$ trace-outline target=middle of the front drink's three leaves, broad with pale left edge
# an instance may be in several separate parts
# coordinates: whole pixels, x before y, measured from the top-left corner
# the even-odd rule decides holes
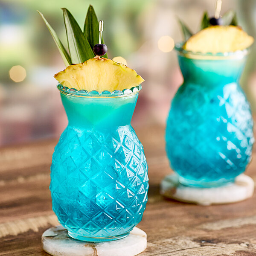
[[[72,63],[77,64],[93,58],[95,56],[93,50],[75,18],[66,8],[62,10]]]

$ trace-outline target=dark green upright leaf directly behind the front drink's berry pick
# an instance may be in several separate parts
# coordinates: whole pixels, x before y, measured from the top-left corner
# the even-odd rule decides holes
[[[96,13],[92,5],[89,6],[87,15],[84,21],[84,35],[87,38],[90,44],[90,47],[92,49],[95,44],[99,43],[99,20],[96,16]],[[103,37],[102,37],[101,43],[104,44]],[[108,58],[107,53],[102,57]]]

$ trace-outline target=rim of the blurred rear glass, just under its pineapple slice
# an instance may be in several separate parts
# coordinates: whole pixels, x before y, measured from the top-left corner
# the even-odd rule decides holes
[[[193,51],[187,51],[183,49],[183,45],[185,42],[180,42],[175,44],[175,50],[183,55],[195,55],[195,56],[202,56],[202,57],[230,57],[230,58],[241,58],[248,54],[248,51],[250,47],[243,49],[243,50],[237,50],[236,52],[193,52]]]

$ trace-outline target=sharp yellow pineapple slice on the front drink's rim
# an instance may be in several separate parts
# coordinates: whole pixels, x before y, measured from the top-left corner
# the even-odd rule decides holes
[[[135,70],[107,58],[91,58],[84,63],[70,65],[54,77],[68,88],[88,92],[97,90],[99,93],[131,89],[144,81]]]

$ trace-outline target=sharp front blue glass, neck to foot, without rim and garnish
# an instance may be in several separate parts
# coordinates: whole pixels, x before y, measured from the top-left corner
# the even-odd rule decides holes
[[[137,96],[61,93],[69,125],[52,157],[50,190],[52,208],[73,238],[119,239],[142,219],[148,166],[130,124]]]

